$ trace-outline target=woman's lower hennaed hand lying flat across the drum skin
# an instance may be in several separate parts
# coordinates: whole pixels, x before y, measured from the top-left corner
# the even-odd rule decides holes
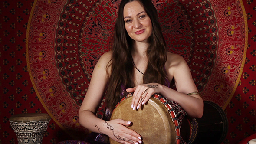
[[[131,125],[131,121],[115,119],[105,121],[103,124],[105,134],[122,144],[141,144],[141,136],[135,131],[125,127]]]

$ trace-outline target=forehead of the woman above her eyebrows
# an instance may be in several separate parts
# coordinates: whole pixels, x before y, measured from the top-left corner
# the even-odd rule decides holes
[[[136,15],[142,11],[145,11],[142,3],[135,0],[125,4],[124,16]]]

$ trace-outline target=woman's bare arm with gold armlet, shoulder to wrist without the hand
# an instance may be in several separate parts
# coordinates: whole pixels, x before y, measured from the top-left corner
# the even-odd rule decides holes
[[[201,118],[203,115],[203,100],[200,95],[187,95],[198,91],[191,76],[187,62],[179,55],[171,54],[169,74],[173,74],[177,91],[163,86],[163,95],[181,105],[188,115]],[[174,60],[175,59],[175,60]]]

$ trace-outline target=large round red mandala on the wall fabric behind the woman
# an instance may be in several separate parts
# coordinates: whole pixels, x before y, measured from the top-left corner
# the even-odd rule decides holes
[[[49,115],[71,136],[95,64],[111,49],[119,0],[35,1],[27,29],[30,78]],[[168,50],[184,57],[204,100],[225,107],[247,46],[242,1],[154,0]],[[104,110],[102,103],[98,115]],[[78,134],[80,133],[80,134]]]

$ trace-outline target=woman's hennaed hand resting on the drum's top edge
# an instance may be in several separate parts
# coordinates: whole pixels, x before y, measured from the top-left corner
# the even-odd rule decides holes
[[[139,109],[141,105],[144,105],[151,98],[151,95],[159,93],[159,87],[161,85],[158,83],[149,83],[126,89],[127,92],[133,93],[131,108],[133,110]]]

